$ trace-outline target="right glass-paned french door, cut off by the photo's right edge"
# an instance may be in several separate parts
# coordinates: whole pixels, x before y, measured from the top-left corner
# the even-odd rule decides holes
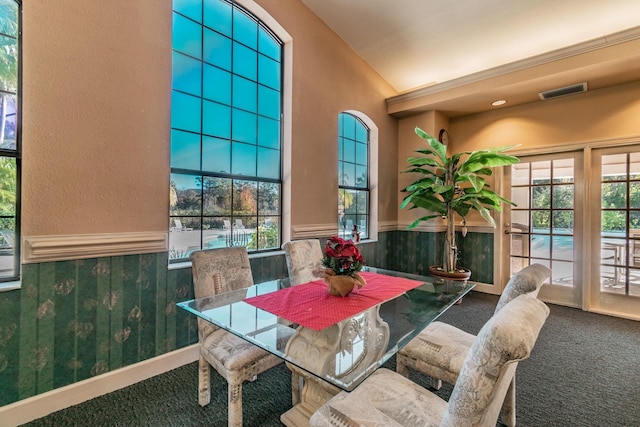
[[[593,311],[640,319],[640,146],[594,149],[590,208]]]

